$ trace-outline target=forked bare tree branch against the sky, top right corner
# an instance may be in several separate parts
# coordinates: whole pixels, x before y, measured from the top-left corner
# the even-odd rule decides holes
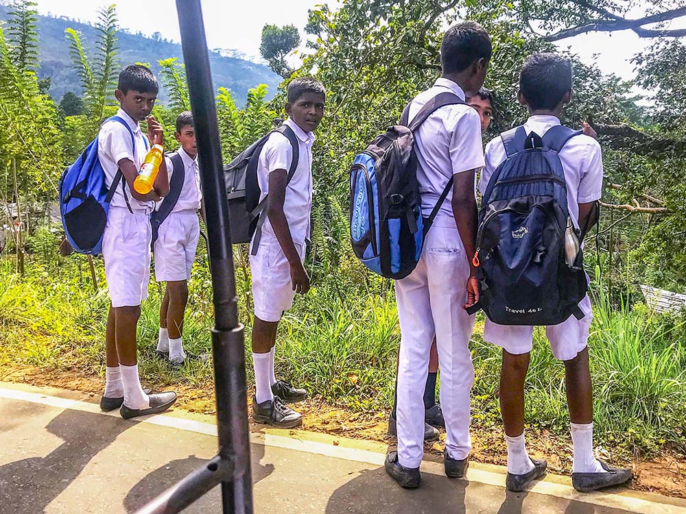
[[[583,1],[576,2],[577,5],[582,5],[586,8],[592,8],[587,3]],[[644,29],[643,25],[650,25],[652,23],[659,23],[661,21],[673,20],[675,18],[680,18],[681,16],[686,16],[686,7],[672,9],[665,12],[660,12],[658,14],[651,14],[650,16],[643,16],[643,18],[627,20],[620,18],[619,16],[612,14],[611,12],[606,12],[604,10],[598,10],[593,8],[595,12],[599,14],[604,14],[611,19],[596,19],[591,20],[589,23],[584,25],[579,25],[578,27],[570,27],[569,29],[563,29],[555,34],[549,34],[543,36],[546,41],[559,41],[560,39],[571,38],[572,36],[578,36],[579,34],[585,34],[586,32],[613,32],[616,30],[632,30],[641,38],[657,38],[657,37],[679,37],[686,35],[686,29]]]

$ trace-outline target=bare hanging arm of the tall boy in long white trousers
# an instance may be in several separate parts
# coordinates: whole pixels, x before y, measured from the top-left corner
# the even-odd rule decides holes
[[[479,289],[476,280],[476,267],[472,262],[475,253],[476,231],[478,215],[476,197],[474,195],[474,178],[476,169],[462,171],[453,175],[453,217],[458,225],[458,232],[462,240],[462,246],[469,261],[469,280],[467,281],[467,303],[463,308],[471,307],[479,301]]]

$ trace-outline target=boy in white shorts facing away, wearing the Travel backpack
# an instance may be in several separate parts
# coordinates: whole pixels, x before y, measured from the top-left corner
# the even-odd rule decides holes
[[[543,137],[551,127],[560,125],[560,113],[571,99],[572,70],[569,60],[554,53],[539,53],[524,63],[519,77],[519,103],[529,110],[524,124],[527,134]],[[587,129],[587,127],[584,127]],[[567,183],[569,215],[577,227],[585,226],[594,202],[602,191],[600,145],[584,134],[574,136],[559,152]],[[484,193],[495,169],[506,160],[502,138],[486,146],[486,167],[479,183]],[[629,469],[617,469],[598,461],[593,455],[593,392],[589,371],[587,341],[593,313],[586,296],[579,304],[584,317],[569,317],[545,332],[553,355],[565,363],[567,404],[573,441],[572,483],[578,491],[593,491],[621,484],[631,478]],[[486,319],[484,340],[502,347],[500,407],[508,447],[507,487],[523,491],[545,473],[545,461],[528,456],[524,443],[524,380],[529,367],[533,327],[502,326]]]

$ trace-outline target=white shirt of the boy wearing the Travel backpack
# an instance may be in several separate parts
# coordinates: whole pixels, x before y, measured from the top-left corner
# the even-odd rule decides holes
[[[547,130],[560,125],[554,116],[532,116],[526,123],[526,133],[535,132],[543,137]],[[560,162],[565,171],[567,183],[567,204],[569,215],[576,225],[579,220],[579,205],[600,199],[602,195],[602,154],[598,141],[590,136],[574,136],[560,150]],[[486,166],[479,180],[479,191],[486,192],[488,180],[500,164],[507,158],[503,140],[500,136],[486,145]]]

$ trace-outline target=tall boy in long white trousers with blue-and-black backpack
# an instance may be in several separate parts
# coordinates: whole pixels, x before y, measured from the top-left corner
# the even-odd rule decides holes
[[[410,121],[431,98],[451,92],[462,101],[484,84],[490,39],[477,23],[447,30],[440,48],[442,77],[410,106]],[[431,212],[453,177],[452,194],[427,233],[416,269],[395,282],[401,328],[397,386],[398,451],[386,457],[386,472],[402,487],[418,487],[424,452],[423,391],[431,342],[436,336],[441,366],[440,404],[445,419],[445,473],[464,475],[471,449],[469,393],[474,368],[469,353],[474,317],[464,304],[477,298],[468,256],[476,237],[475,173],[484,165],[479,114],[470,106],[442,107],[416,132],[417,179],[423,212]],[[465,290],[466,286],[466,290]]]

